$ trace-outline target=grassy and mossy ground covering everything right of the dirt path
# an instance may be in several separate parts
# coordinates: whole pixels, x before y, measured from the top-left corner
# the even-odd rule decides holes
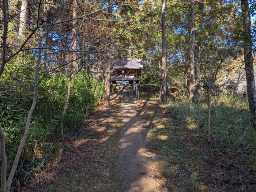
[[[213,142],[207,142],[207,103],[168,98],[154,110],[147,137],[158,155],[159,174],[169,191],[253,191],[256,132],[250,124],[246,98],[219,95],[211,102]]]

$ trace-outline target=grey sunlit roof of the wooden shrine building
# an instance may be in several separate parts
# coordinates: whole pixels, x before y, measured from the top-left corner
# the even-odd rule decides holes
[[[142,69],[143,61],[142,59],[120,59],[116,62],[115,68],[117,69]]]

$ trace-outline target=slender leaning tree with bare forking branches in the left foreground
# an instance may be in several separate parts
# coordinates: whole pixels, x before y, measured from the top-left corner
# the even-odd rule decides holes
[[[5,153],[5,133],[3,131],[2,126],[0,125],[0,155],[1,155],[1,192],[9,192],[10,188],[11,188],[11,184],[12,184],[12,180],[14,178],[14,175],[16,173],[16,169],[19,163],[19,159],[24,147],[24,144],[26,142],[27,136],[29,135],[29,127],[30,127],[30,121],[31,121],[31,116],[33,114],[34,108],[35,108],[35,104],[36,104],[36,100],[37,100],[37,89],[38,89],[38,85],[39,83],[42,81],[42,79],[44,79],[46,76],[52,74],[54,71],[56,71],[59,68],[62,68],[66,65],[69,65],[73,62],[76,62],[77,60],[81,59],[82,57],[88,55],[89,53],[93,53],[93,52],[97,52],[99,50],[93,50],[93,51],[86,51],[84,50],[82,52],[82,54],[80,54],[80,57],[78,58],[72,58],[71,57],[71,61],[69,62],[65,62],[61,65],[58,65],[56,67],[53,67],[51,69],[46,69],[46,71],[40,72],[40,74],[44,74],[41,76],[41,78],[38,79],[39,77],[39,68],[41,66],[43,66],[42,64],[42,56],[41,56],[41,52],[43,49],[49,49],[49,50],[53,50],[54,53],[51,54],[56,54],[59,57],[59,51],[62,50],[58,50],[58,49],[53,49],[53,48],[45,48],[45,47],[41,47],[42,45],[42,39],[45,37],[46,34],[48,34],[48,30],[51,29],[52,26],[56,26],[56,25],[60,25],[63,23],[68,23],[68,22],[72,22],[74,20],[78,20],[78,19],[83,19],[86,18],[86,16],[89,15],[93,15],[97,12],[100,12],[101,10],[104,10],[107,7],[103,7],[103,8],[99,8],[96,11],[93,10],[91,11],[89,14],[84,14],[80,17],[76,17],[76,18],[72,18],[72,19],[65,19],[62,21],[58,21],[64,14],[64,11],[67,9],[67,7],[69,6],[69,3],[71,1],[69,1],[67,4],[65,4],[65,6],[62,8],[62,10],[59,12],[59,15],[57,16],[57,18],[51,22],[51,23],[47,23],[44,25],[39,25],[39,19],[40,19],[40,7],[41,7],[41,0],[39,0],[38,3],[38,11],[37,11],[37,18],[35,19],[35,27],[34,29],[31,31],[31,33],[25,38],[25,41],[23,42],[22,45],[20,45],[20,47],[15,48],[14,52],[12,52],[12,54],[8,55],[7,57],[7,37],[8,37],[8,2],[7,0],[3,0],[1,1],[1,8],[3,10],[2,14],[3,14],[3,33],[2,33],[2,41],[1,41],[1,68],[0,68],[0,79],[2,77],[2,74],[5,70],[5,66],[8,63],[8,61],[10,61],[12,58],[14,58],[15,56],[17,56],[20,52],[23,51],[27,51],[27,50],[37,50],[37,63],[35,65],[35,78],[34,78],[34,90],[33,90],[33,102],[31,104],[30,110],[27,114],[27,119],[26,119],[26,125],[25,125],[25,132],[23,133],[23,137],[22,140],[20,141],[19,147],[18,147],[18,151],[15,155],[15,160],[14,163],[12,164],[12,168],[11,168],[11,172],[8,176],[8,180],[6,181],[6,172],[7,172],[7,158],[6,158],[6,153]],[[46,29],[46,30],[45,30]],[[48,29],[48,30],[47,30]],[[46,31],[46,32],[44,32]],[[40,32],[41,35],[40,37],[38,37],[38,34],[36,32]],[[36,47],[32,47],[32,48],[25,48],[25,45],[27,45],[27,43],[29,42],[30,39],[33,38],[33,41],[35,41],[35,45]],[[39,40],[38,40],[39,39]],[[75,39],[75,38],[74,38]],[[37,46],[38,45],[38,46]],[[99,49],[103,49],[104,46],[99,46]],[[64,52],[77,52],[77,50],[64,50]],[[49,53],[46,53],[49,54]]]

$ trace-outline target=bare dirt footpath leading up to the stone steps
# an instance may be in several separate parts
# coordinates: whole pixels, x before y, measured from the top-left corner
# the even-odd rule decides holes
[[[158,191],[154,180],[157,157],[146,148],[148,122],[140,118],[143,110],[129,103],[119,103],[117,107],[123,126],[114,162],[114,175],[118,182],[114,191]]]

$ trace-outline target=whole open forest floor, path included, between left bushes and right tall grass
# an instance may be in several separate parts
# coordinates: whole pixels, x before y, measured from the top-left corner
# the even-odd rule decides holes
[[[255,191],[252,164],[226,157],[177,122],[174,112],[158,107],[154,99],[95,108],[65,138],[62,160],[16,191],[215,192],[241,191],[242,186]]]

